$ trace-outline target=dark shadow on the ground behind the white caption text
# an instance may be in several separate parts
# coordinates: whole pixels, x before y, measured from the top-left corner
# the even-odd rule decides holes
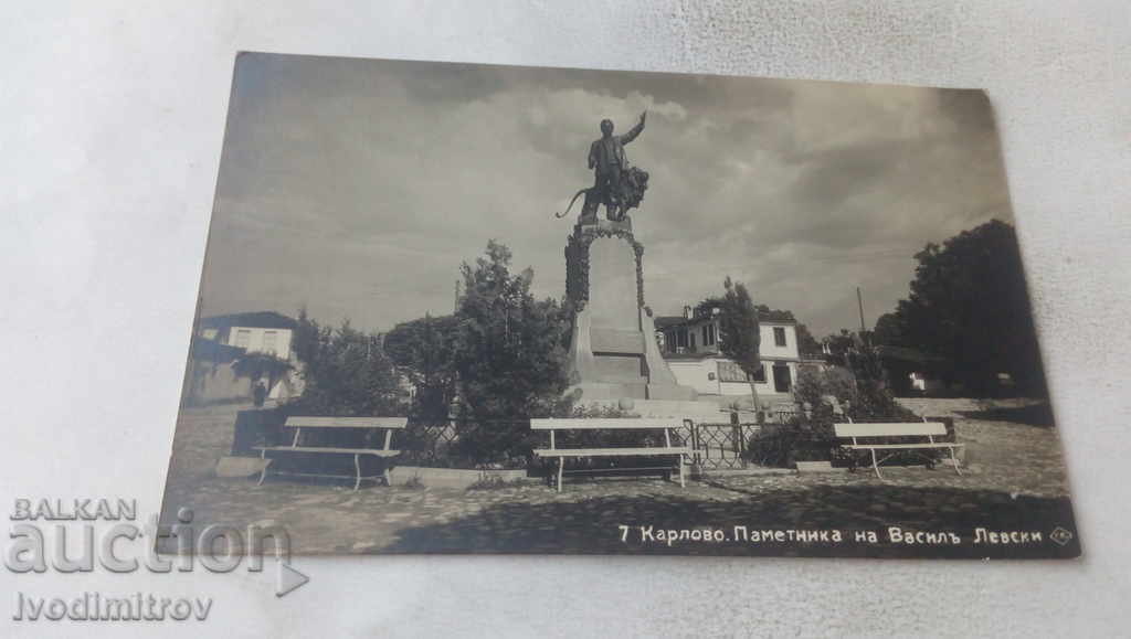
[[[736,489],[740,492],[742,489]],[[622,541],[629,526],[627,541]],[[684,541],[668,546],[645,541],[641,526],[654,530],[709,528],[726,541]],[[845,542],[752,543],[734,538],[734,527],[749,530],[840,530]],[[953,532],[958,546],[890,543],[888,527]],[[444,524],[398,532],[378,553],[592,553],[725,554],[882,558],[1071,558],[1076,539],[1060,545],[1050,533],[1074,530],[1067,499],[1011,496],[994,491],[912,486],[811,486],[763,491],[753,500],[703,501],[672,494],[598,496],[550,503],[502,502]],[[975,545],[975,528],[1041,532],[1043,542],[1025,545]],[[880,543],[855,543],[856,530],[874,530]]]

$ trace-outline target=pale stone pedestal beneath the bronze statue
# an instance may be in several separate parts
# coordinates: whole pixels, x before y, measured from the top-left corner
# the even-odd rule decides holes
[[[632,219],[584,219],[566,247],[566,293],[576,309],[570,389],[581,403],[696,398],[659,354],[644,303],[644,245]]]

